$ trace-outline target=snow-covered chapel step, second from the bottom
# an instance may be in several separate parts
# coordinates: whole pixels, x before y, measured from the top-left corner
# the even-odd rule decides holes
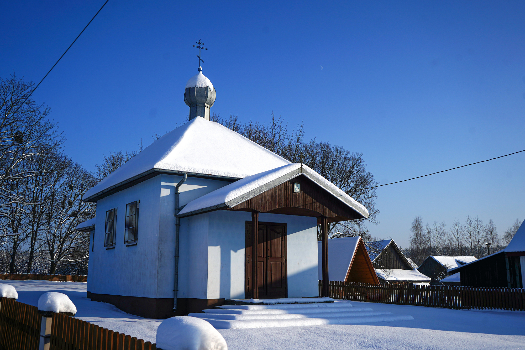
[[[286,320],[288,318],[324,318],[324,317],[354,317],[354,316],[376,316],[391,314],[386,311],[346,311],[346,312],[316,312],[312,314],[211,314],[191,313],[188,316],[199,318],[213,318],[214,320]]]

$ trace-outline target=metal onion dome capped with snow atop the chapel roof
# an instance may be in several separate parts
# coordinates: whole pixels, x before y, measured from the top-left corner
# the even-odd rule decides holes
[[[209,108],[215,102],[215,88],[204,74],[202,67],[198,67],[198,74],[191,77],[184,90],[184,102],[190,106],[190,120],[203,117],[209,120]]]

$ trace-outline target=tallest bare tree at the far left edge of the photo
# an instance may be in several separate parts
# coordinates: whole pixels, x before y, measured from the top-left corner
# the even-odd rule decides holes
[[[32,88],[14,74],[0,78],[0,232],[9,242],[9,271],[29,238],[27,209],[34,202],[28,179],[48,172],[34,163],[63,141],[56,123],[47,119],[49,108],[29,98]]]

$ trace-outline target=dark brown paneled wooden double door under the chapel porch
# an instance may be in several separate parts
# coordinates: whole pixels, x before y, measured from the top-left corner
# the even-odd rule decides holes
[[[251,298],[251,254],[253,253],[251,221],[246,222],[245,297]],[[259,298],[286,298],[287,276],[286,224],[259,222],[257,263]]]

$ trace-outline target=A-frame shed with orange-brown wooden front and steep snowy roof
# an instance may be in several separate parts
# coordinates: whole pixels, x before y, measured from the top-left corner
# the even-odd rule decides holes
[[[321,242],[318,242],[321,261]],[[379,283],[372,261],[361,237],[342,237],[328,240],[328,275],[330,281]],[[322,279],[319,264],[319,279]]]

